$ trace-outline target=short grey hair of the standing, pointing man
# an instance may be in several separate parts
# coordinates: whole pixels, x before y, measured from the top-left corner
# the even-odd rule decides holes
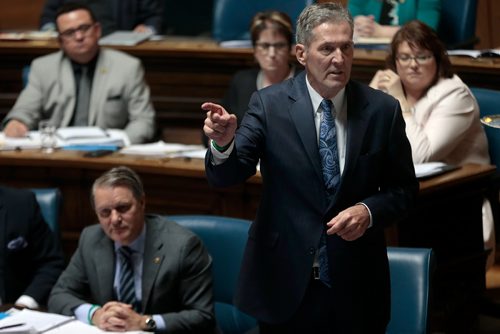
[[[354,21],[349,11],[336,2],[315,3],[304,8],[297,19],[296,42],[309,46],[313,38],[313,29],[325,22],[347,22],[354,31]]]

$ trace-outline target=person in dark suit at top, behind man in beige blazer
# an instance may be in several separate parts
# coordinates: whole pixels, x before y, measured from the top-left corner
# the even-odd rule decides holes
[[[47,0],[40,17],[41,30],[56,30],[56,12],[68,0]],[[84,0],[101,22],[103,35],[115,30],[159,33],[163,18],[160,0]]]

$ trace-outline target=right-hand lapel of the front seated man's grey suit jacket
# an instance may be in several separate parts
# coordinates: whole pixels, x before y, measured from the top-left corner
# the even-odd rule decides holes
[[[164,259],[161,252],[163,241],[160,235],[160,225],[154,219],[146,219],[146,242],[144,245],[144,261],[142,265],[142,309],[146,306],[153,293],[153,286]]]

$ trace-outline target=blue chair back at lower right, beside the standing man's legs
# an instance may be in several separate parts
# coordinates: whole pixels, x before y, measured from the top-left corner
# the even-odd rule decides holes
[[[387,256],[391,272],[391,321],[387,334],[427,333],[432,250],[388,247]]]

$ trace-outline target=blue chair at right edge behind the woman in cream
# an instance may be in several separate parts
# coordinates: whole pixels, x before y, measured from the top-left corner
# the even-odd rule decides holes
[[[498,102],[500,101],[500,90],[471,87],[472,94],[479,104],[479,114],[481,117],[500,114]],[[490,151],[491,163],[500,169],[500,129],[484,126],[488,147]]]

